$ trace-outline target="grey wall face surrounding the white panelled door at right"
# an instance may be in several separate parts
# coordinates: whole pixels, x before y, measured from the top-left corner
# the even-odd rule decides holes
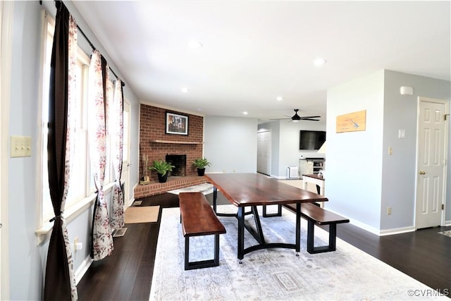
[[[413,87],[414,94],[401,95],[402,86]],[[449,100],[450,91],[446,80],[385,70],[381,230],[414,226],[418,97]],[[398,138],[398,130],[406,131],[404,139]],[[393,147],[392,156],[388,155],[388,147]],[[450,152],[447,161],[450,162]],[[447,221],[451,220],[450,182],[448,176]],[[387,207],[392,207],[390,216],[386,214]]]

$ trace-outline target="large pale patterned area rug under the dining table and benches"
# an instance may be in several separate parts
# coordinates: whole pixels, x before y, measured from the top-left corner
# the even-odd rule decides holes
[[[236,212],[232,205],[218,208]],[[448,300],[426,295],[434,290],[340,239],[335,252],[309,254],[304,220],[299,257],[290,249],[259,250],[239,264],[237,220],[220,219],[227,231],[220,235],[220,265],[185,271],[180,211],[163,209],[149,300]],[[261,218],[261,226],[268,242],[294,242],[295,214],[285,209],[281,217]],[[326,231],[315,228],[315,235],[316,245],[326,243]],[[190,252],[190,261],[213,258],[213,236],[192,238]]]

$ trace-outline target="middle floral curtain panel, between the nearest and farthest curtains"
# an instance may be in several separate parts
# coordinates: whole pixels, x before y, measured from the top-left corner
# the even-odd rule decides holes
[[[109,67],[101,58],[98,50],[94,50],[89,67],[89,156],[97,188],[97,199],[94,205],[92,220],[92,258],[103,259],[113,251],[113,237],[109,223],[108,207],[104,192],[106,167],[106,120],[108,112]]]

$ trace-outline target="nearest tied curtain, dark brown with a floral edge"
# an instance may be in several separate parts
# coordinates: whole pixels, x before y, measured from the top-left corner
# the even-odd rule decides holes
[[[56,25],[51,53],[49,134],[47,143],[49,190],[54,226],[49,241],[44,300],[77,300],[72,252],[63,217],[70,180],[75,130],[75,63],[77,24],[66,6],[56,1]]]

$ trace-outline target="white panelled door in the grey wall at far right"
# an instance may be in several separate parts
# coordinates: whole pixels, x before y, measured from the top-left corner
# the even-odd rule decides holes
[[[426,228],[442,224],[445,204],[445,106],[440,99],[419,98],[416,222]]]

